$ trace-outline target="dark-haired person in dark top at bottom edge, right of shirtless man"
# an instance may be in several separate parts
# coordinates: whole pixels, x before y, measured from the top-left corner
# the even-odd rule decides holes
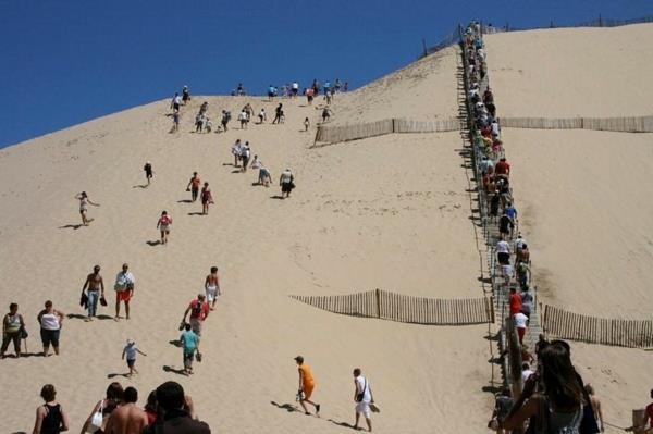
[[[162,412],[144,434],[211,434],[206,422],[197,420],[190,396],[176,382],[165,382],[157,387],[157,407]]]

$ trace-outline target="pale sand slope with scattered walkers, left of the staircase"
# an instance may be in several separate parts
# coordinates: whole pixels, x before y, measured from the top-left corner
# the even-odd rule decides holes
[[[444,67],[435,77],[455,77],[455,63],[430,67]],[[443,88],[431,75],[411,83],[433,94]],[[394,86],[404,84],[397,79],[375,95],[384,97]],[[455,97],[455,90],[443,96],[454,98],[447,115],[456,114]],[[143,402],[158,384],[175,380],[214,432],[347,432],[355,367],[369,375],[382,408],[374,417],[379,432],[471,432],[484,425],[492,406],[492,397],[481,393],[492,375],[486,326],[362,320],[288,297],[377,287],[480,297],[459,135],[385,136],[309,150],[315,129],[303,133],[303,121],[309,116],[315,125],[319,107],[306,107],[304,99],[284,100],[283,125],[192,133],[205,100],[213,120],[220,110],[237,113],[246,102],[268,113],[276,103],[195,97],[182,109],[181,132],[169,134],[169,101],[158,101],[0,151],[3,303],[20,303],[32,334],[29,352],[39,350],[34,319],[46,299],[76,315],[63,323],[61,356],[0,363],[5,389],[21,390],[0,396],[3,429],[30,430],[45,383],[58,388],[75,432],[110,381],[136,386]],[[392,98],[387,101],[374,107],[374,116],[395,115]],[[293,169],[292,198],[278,200],[276,181],[269,189],[254,186],[254,171],[239,173],[232,165],[236,138],[250,141],[273,179],[285,166]],[[405,151],[408,144],[411,152]],[[147,160],[155,177],[143,188]],[[213,191],[207,216],[197,215],[200,204],[187,203],[193,171]],[[78,226],[73,198],[82,190],[100,203],[90,207],[95,221],[88,227]],[[174,220],[168,246],[157,245],[162,210]],[[111,285],[125,261],[137,280],[132,319],[114,322]],[[110,305],[100,309],[106,320],[86,323],[78,318],[84,313],[78,297],[96,263]],[[204,361],[185,377],[175,373],[182,355],[171,342],[211,265],[220,268],[223,295],[205,324]],[[120,360],[127,337],[148,355],[138,359],[140,374],[133,380],[122,376],[126,367]],[[287,411],[296,405],[297,354],[312,367],[321,419]]]

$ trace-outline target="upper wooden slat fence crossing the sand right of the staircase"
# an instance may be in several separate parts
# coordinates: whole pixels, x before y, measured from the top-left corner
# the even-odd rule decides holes
[[[653,116],[632,117],[501,117],[502,128],[596,129],[653,133]]]

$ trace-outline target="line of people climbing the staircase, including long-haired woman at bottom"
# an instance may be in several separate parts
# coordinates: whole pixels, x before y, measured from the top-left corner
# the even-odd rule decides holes
[[[482,177],[482,194],[488,203],[489,224],[496,224],[498,230],[494,251],[501,269],[498,277],[509,287],[509,318],[514,321],[520,345],[523,384],[516,396],[508,388],[496,396],[488,426],[500,434],[521,433],[525,425],[528,425],[527,432],[532,433],[603,432],[605,422],[601,400],[593,386],[584,384],[576,371],[569,345],[564,340],[549,342],[544,334],[540,334],[533,357],[525,343],[534,302],[530,292],[530,251],[517,231],[518,213],[512,198],[510,164],[504,154],[494,95],[490,86],[483,89],[489,79],[479,23],[473,22],[467,27],[463,46],[468,64],[467,98],[471,108],[476,159]],[[492,272],[496,273],[496,270]],[[653,405],[646,408],[646,413],[649,417],[642,421],[642,426],[649,418],[653,418]]]

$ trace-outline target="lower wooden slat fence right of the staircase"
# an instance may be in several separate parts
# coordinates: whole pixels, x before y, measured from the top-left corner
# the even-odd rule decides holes
[[[569,340],[618,347],[653,347],[653,320],[615,320],[544,307],[544,331]]]

